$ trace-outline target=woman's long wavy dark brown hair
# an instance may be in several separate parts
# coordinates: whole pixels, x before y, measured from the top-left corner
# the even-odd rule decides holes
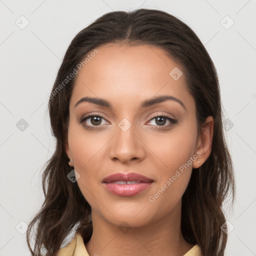
[[[26,239],[32,255],[56,255],[64,238],[75,227],[86,243],[92,234],[91,207],[77,182],[70,182],[65,141],[69,101],[76,75],[64,86],[66,76],[96,47],[106,43],[152,45],[182,67],[186,85],[196,105],[198,132],[206,117],[214,118],[209,157],[191,174],[182,196],[181,231],[184,239],[198,244],[203,256],[223,256],[227,234],[221,230],[223,202],[233,204],[235,183],[232,160],[223,133],[223,109],[214,64],[197,35],[173,15],[155,9],[112,11],[79,31],[68,46],[49,97],[48,110],[55,151],[45,163],[40,210],[30,221]],[[61,89],[59,89],[61,87]],[[54,93],[55,92],[55,93]],[[33,239],[33,249],[31,248]]]

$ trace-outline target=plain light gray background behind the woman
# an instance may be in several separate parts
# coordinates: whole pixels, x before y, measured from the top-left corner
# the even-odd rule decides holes
[[[237,185],[226,255],[256,255],[255,0],[0,0],[0,256],[30,255],[21,233],[43,202],[41,168],[54,149],[46,95],[70,40],[106,12],[138,7],[183,20],[216,66]]]

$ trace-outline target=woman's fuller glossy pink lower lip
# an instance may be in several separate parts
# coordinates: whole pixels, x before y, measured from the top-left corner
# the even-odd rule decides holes
[[[132,196],[147,189],[153,182],[140,182],[134,184],[103,183],[105,188],[113,194]]]

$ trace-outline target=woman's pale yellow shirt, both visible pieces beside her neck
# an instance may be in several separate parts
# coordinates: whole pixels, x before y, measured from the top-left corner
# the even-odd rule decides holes
[[[61,248],[57,256],[89,256],[80,233],[75,233],[75,237],[72,241],[68,243],[67,246]],[[194,245],[183,256],[201,256],[200,247],[197,244]]]

